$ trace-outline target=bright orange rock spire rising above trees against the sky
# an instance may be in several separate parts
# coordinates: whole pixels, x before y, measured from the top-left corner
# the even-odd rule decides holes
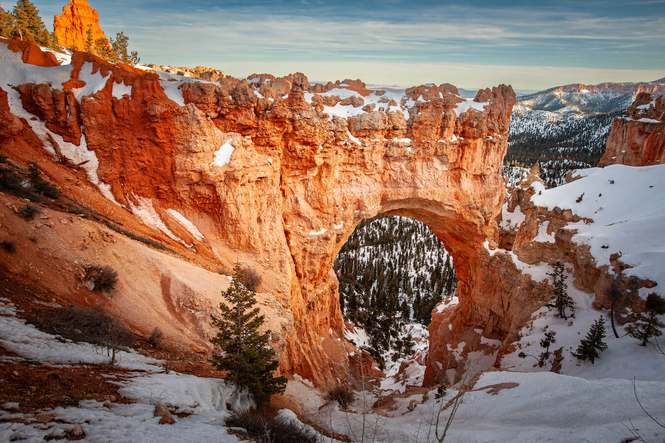
[[[106,39],[104,31],[99,27],[99,14],[86,0],[70,0],[63,7],[63,15],[53,17],[53,33],[58,43],[72,49],[84,50],[90,26],[93,42]]]

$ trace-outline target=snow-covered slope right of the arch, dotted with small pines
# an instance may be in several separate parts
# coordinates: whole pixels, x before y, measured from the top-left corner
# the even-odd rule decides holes
[[[638,295],[646,299],[651,292],[663,294],[665,287],[665,165],[650,167],[631,167],[610,165],[605,168],[590,168],[576,171],[582,178],[553,189],[543,189],[534,183],[535,195],[531,201],[538,207],[548,210],[559,208],[571,209],[574,214],[583,217],[576,223],[569,223],[565,229],[573,232],[572,241],[589,246],[595,258],[595,266],[608,266],[607,272],[615,274],[610,265],[610,256],[618,256],[628,267],[624,276],[637,276],[652,280],[656,286],[640,288]],[[518,211],[515,211],[517,214]],[[520,213],[521,215],[521,213]],[[554,236],[544,232],[547,226],[539,226],[536,241],[554,242]],[[513,260],[521,264],[515,254]],[[614,260],[614,258],[612,259]],[[526,268],[526,266],[523,266]],[[547,262],[528,266],[534,280],[551,278]],[[547,359],[543,367],[535,365],[543,349],[540,341],[547,331],[555,331],[557,340],[550,351],[561,348],[561,372],[587,379],[632,379],[665,382],[665,355],[654,347],[653,340],[646,347],[626,335],[624,327],[618,325],[619,338],[615,338],[609,329],[609,313],[593,308],[594,294],[587,294],[573,285],[572,268],[566,272],[568,293],[575,300],[575,316],[568,319],[555,317],[554,311],[541,308],[533,313],[533,320],[521,331],[517,348],[501,360],[501,367],[519,371],[549,371],[553,356]],[[593,322],[604,317],[608,329],[604,341],[608,348],[595,364],[576,359],[575,352],[580,340],[589,331]],[[622,314],[625,318],[626,314]],[[661,316],[665,320],[665,315]],[[526,359],[518,354],[524,352]],[[535,356],[535,359],[529,357]]]

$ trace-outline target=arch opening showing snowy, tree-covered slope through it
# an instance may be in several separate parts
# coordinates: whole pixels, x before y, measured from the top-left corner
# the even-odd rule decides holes
[[[333,270],[346,335],[356,347],[386,373],[418,351],[424,360],[432,310],[452,301],[458,283],[452,254],[428,224],[383,214],[365,219]]]

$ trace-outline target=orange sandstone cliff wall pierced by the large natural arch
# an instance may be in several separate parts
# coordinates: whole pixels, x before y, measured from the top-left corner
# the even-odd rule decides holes
[[[356,224],[378,213],[426,222],[445,242],[460,279],[460,324],[500,336],[521,321],[508,304],[518,303],[517,284],[531,283],[487,249],[497,246],[505,199],[509,86],[471,101],[448,84],[389,97],[357,80],[269,80],[170,82],[76,52],[62,84],[15,91],[20,111],[41,125],[45,149],[94,152],[82,167],[120,205],[116,213],[130,211],[183,255],[223,266],[241,259],[263,273],[262,290],[285,319],[275,328],[285,373],[319,385],[345,377],[331,266]],[[17,143],[35,144],[31,134],[0,141],[15,152]],[[430,327],[430,337],[437,333],[446,331]],[[432,343],[430,382],[447,353],[441,340]]]

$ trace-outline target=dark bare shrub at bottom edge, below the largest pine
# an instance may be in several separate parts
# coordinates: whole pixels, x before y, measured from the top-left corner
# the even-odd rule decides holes
[[[285,418],[267,418],[255,410],[231,412],[225,420],[229,427],[243,428],[259,443],[319,443],[317,432]]]

